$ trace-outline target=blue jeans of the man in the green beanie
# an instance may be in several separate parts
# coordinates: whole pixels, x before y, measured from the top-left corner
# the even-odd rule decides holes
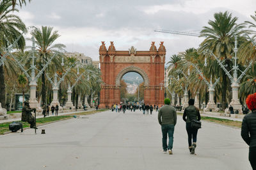
[[[161,128],[162,128],[162,134],[163,134],[163,138],[162,138],[163,150],[164,151],[166,151],[167,149],[172,150],[174,125],[162,125]],[[167,146],[167,134],[169,137],[168,146]]]

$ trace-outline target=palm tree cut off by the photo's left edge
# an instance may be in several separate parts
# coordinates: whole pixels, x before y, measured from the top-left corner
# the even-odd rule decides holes
[[[19,12],[15,8],[13,10]],[[4,48],[8,46],[8,42],[13,43],[23,31],[26,31],[25,24],[17,15],[12,13],[13,10],[12,1],[0,1],[0,58],[4,52]],[[17,43],[17,48],[23,49],[24,46],[25,40],[22,37]],[[4,70],[13,70],[12,67],[7,68],[7,66],[13,65],[14,62],[7,58],[4,63],[4,65],[0,66],[0,102],[6,108]]]

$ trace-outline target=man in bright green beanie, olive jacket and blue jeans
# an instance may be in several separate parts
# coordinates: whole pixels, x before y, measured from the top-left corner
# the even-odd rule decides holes
[[[158,112],[158,122],[161,125],[162,130],[162,144],[163,144],[163,152],[171,155],[173,154],[173,133],[174,127],[177,123],[177,112],[174,107],[170,105],[171,100],[169,98],[164,99],[164,106]],[[167,134],[169,138],[168,146],[167,146]]]

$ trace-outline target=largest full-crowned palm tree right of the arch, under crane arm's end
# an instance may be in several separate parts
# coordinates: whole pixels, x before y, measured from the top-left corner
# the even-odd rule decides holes
[[[230,61],[231,54],[234,49],[234,30],[239,40],[241,35],[245,32],[242,31],[244,24],[237,24],[237,17],[232,17],[232,13],[220,12],[214,13],[214,20],[209,20],[209,26],[205,26],[201,31],[201,36],[206,36],[204,42],[201,43],[201,50],[209,49],[220,59],[224,60],[227,65],[227,70],[231,69],[232,61]],[[218,66],[218,70],[221,70]],[[227,105],[226,94],[227,86],[230,84],[230,80],[227,79],[227,75],[221,70],[221,82],[222,82],[222,107],[225,109]]]

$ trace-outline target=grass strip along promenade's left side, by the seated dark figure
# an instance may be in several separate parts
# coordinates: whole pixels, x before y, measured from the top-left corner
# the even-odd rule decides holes
[[[74,114],[66,114],[63,116],[51,116],[46,118],[37,118],[36,119],[36,126],[43,125],[45,123],[59,121],[59,120],[68,120],[71,118],[74,118],[74,115],[76,116],[82,116],[82,115],[88,115],[88,114],[95,114],[97,112],[107,111],[108,109],[100,109],[98,111],[86,111],[86,112],[79,112]],[[21,121],[18,121],[21,122]],[[3,135],[4,132],[8,132],[9,130],[9,124],[12,122],[6,122],[6,123],[0,123],[0,135]],[[22,121],[23,128],[29,127],[29,123]]]

